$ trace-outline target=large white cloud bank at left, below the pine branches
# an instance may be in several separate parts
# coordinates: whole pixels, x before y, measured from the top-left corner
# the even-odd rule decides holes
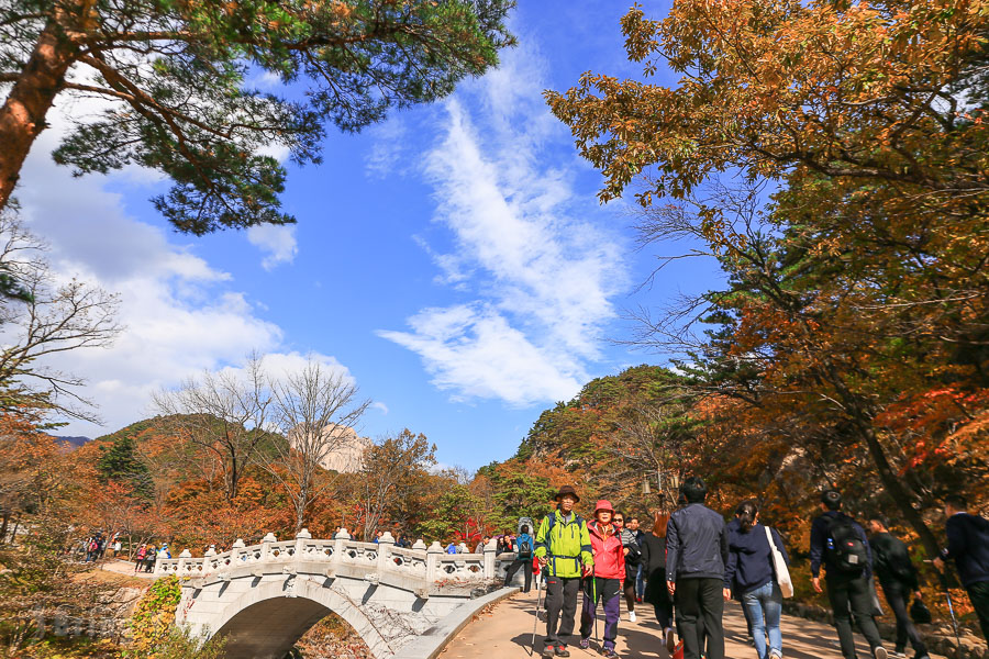
[[[73,422],[60,432],[96,436],[133,423],[152,413],[154,391],[203,369],[243,364],[252,350],[268,354],[273,370],[304,361],[297,353],[279,351],[281,328],[258,315],[258,305],[234,288],[229,273],[191,246],[169,241],[162,228],[127,215],[122,197],[103,189],[107,177],[73,178],[56,166],[49,153],[66,121],[57,114],[53,120],[22,171],[16,190],[22,216],[49,243],[57,277],[78,276],[120,295],[125,326],[109,348],[73,350],[49,362],[88,381],[80,393],[97,403],[104,420],[102,427]],[[112,180],[133,183],[142,176]],[[256,232],[252,242],[270,253],[266,260],[273,264],[291,260],[296,249],[290,231]],[[332,357],[315,358],[346,371]]]

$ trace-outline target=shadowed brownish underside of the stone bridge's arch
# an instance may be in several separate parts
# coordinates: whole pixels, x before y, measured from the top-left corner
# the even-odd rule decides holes
[[[252,604],[223,627],[226,659],[282,659],[330,610],[307,597],[273,597]]]

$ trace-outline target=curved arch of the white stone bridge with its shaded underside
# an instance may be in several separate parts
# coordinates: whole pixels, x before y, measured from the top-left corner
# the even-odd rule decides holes
[[[227,659],[281,659],[330,612],[346,621],[376,657],[392,654],[388,641],[356,604],[308,580],[299,581],[291,591],[280,582],[263,583],[230,602],[215,618],[214,627],[203,632],[227,638]]]

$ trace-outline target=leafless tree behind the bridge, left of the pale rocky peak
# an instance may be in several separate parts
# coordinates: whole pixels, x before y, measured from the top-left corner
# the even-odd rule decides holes
[[[263,359],[253,355],[243,369],[205,371],[174,390],[155,394],[163,428],[215,456],[223,466],[226,500],[237,496],[247,466],[266,440],[274,400]]]

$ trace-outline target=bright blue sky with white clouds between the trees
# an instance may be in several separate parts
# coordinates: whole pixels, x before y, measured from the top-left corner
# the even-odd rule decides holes
[[[55,365],[88,379],[105,422],[63,432],[116,429],[149,414],[154,390],[257,349],[276,366],[314,355],[347,369],[377,403],[363,434],[409,427],[443,463],[474,469],[509,457],[588,379],[660,362],[609,340],[630,335],[623,310],[716,275],[678,261],[636,292],[654,261],[635,252],[623,202],[598,203],[600,176],[541,98],[588,69],[636,75],[626,9],[521,3],[520,45],[498,70],[358,135],[332,133],[322,166],[292,167],[289,228],[175,234],[147,202],[165,185],[154,174],[71,179],[54,166],[56,118],[24,170],[24,215],[58,272],[121,295],[126,325],[112,348]]]

